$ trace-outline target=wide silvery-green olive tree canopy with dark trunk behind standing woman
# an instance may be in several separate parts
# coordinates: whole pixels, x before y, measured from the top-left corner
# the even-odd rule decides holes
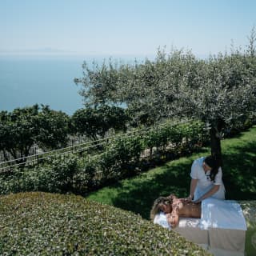
[[[82,96],[91,105],[122,102],[145,123],[161,118],[197,118],[210,130],[211,152],[222,164],[223,132],[241,126],[256,110],[254,34],[246,52],[232,51],[206,60],[190,51],[158,50],[141,64],[84,66]]]

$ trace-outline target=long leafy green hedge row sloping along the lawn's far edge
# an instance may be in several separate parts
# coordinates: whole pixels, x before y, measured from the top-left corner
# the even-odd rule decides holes
[[[146,133],[113,138],[95,155],[66,155],[33,169],[1,175],[0,194],[23,191],[86,194],[110,182],[134,176],[156,163],[188,154],[206,142],[202,122],[166,123]]]

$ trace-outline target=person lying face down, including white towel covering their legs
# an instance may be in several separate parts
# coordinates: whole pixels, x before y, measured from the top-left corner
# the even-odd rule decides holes
[[[164,221],[162,215],[165,217]],[[247,230],[242,208],[234,200],[206,198],[202,203],[195,203],[170,194],[169,197],[160,197],[154,201],[150,218],[154,223],[167,228],[178,226],[179,218],[198,218],[200,219],[198,227],[202,230],[210,228]]]

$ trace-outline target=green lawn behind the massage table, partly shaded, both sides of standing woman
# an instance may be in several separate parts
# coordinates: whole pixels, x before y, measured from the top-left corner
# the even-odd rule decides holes
[[[207,154],[210,148],[203,148],[197,154],[167,162],[138,177],[98,190],[87,198],[149,218],[152,203],[158,196],[170,193],[187,196],[190,166],[195,158]],[[256,200],[256,126],[235,138],[223,140],[222,155],[226,199]]]

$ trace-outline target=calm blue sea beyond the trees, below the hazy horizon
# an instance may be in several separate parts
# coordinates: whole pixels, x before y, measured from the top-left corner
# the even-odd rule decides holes
[[[72,115],[84,106],[78,93],[82,86],[74,83],[74,78],[82,78],[82,63],[102,65],[109,58],[111,56],[0,55],[0,111],[43,104]],[[135,58],[111,59],[134,62]]]

